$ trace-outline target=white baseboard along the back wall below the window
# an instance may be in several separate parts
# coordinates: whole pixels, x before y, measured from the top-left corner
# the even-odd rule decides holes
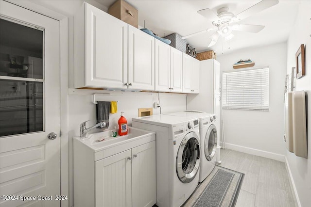
[[[239,152],[243,152],[243,153],[247,153],[247,154],[251,154],[251,155],[257,155],[257,156],[264,157],[264,158],[275,159],[275,160],[278,160],[281,162],[285,162],[285,156],[281,155],[281,154],[276,154],[273,152],[267,152],[267,151],[263,151],[263,150],[259,150],[259,149],[254,149],[254,148],[240,146],[240,145],[236,145],[236,144],[230,144],[230,143],[225,143],[225,147],[228,149],[235,150],[235,151],[239,151]]]

